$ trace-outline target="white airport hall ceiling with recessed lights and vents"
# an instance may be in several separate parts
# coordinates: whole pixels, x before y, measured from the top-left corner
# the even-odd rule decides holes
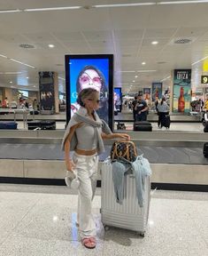
[[[92,7],[95,4],[141,2],[153,4]],[[174,68],[192,68],[192,86],[202,86],[200,76],[208,74],[208,4],[157,2],[1,0],[0,86],[36,91],[38,72],[56,71],[60,77],[59,91],[64,92],[65,54],[80,53],[114,54],[114,86],[122,87],[123,92],[138,92],[140,88],[150,87],[152,82],[158,81],[168,86]],[[81,7],[23,11],[63,6]],[[19,12],[1,12],[16,9]],[[189,39],[190,42],[174,44],[179,39]],[[158,44],[151,44],[153,41]],[[34,48],[20,48],[19,44],[32,44]],[[50,49],[48,44],[55,47]]]

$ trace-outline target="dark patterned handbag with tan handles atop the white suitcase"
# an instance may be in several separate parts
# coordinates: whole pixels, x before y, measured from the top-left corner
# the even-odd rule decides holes
[[[137,150],[133,141],[117,140],[112,144],[111,159],[116,160],[124,157],[127,161],[134,162]]]

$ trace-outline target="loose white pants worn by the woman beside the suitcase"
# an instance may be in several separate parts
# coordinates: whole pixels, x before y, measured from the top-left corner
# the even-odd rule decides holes
[[[80,180],[77,221],[82,237],[96,236],[96,223],[92,216],[92,200],[96,192],[98,156],[73,154],[73,163]]]

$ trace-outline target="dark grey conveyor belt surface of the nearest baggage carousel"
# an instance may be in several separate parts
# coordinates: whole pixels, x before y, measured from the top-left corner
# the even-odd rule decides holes
[[[100,156],[103,161],[110,154],[111,146],[105,146]],[[139,154],[149,159],[151,164],[205,164],[208,159],[203,156],[203,148],[142,146]],[[9,144],[1,143],[0,159],[27,160],[63,160],[64,152],[59,144]]]

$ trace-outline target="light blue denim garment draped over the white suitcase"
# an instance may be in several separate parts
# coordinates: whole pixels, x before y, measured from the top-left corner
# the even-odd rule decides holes
[[[124,177],[132,173],[135,176],[136,196],[138,204],[143,207],[143,198],[145,192],[145,178],[151,175],[150,163],[143,156],[137,156],[135,162],[129,162],[120,157],[112,162],[112,181],[114,191],[119,204],[123,203],[124,198]]]

